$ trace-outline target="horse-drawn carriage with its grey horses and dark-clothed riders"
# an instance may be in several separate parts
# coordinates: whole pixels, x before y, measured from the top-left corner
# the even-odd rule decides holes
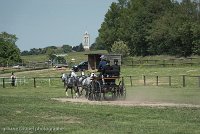
[[[88,100],[115,100],[126,97],[124,79],[120,77],[120,68],[115,66],[105,67],[99,75],[92,73],[88,77],[66,77],[65,82],[66,93],[70,87],[72,97],[73,90],[76,92],[76,96],[80,96],[83,89]],[[81,92],[79,88],[81,88]]]

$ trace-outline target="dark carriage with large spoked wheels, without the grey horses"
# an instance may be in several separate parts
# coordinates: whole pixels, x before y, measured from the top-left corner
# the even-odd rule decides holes
[[[87,98],[89,100],[125,99],[126,89],[120,69],[104,70],[98,77],[92,77]]]

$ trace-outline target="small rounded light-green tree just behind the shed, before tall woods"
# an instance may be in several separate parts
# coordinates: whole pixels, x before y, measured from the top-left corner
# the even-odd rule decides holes
[[[112,45],[111,52],[116,54],[121,54],[123,57],[126,57],[129,55],[129,48],[123,41],[116,41]]]

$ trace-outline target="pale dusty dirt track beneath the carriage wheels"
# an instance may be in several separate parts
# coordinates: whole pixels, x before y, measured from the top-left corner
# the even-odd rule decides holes
[[[176,103],[163,103],[163,102],[141,102],[141,101],[128,101],[128,100],[115,100],[115,101],[89,101],[85,98],[52,98],[60,102],[71,103],[86,103],[91,105],[113,105],[113,106],[143,106],[143,107],[194,107],[200,108],[200,105],[193,104],[176,104]]]

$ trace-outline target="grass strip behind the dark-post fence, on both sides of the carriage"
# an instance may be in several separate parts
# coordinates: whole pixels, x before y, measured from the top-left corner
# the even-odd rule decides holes
[[[33,77],[60,77],[62,73],[68,73],[69,69],[65,70],[56,70],[56,69],[46,69],[42,71],[26,71],[26,72],[16,72],[16,76],[18,78],[32,78],[27,79],[26,82],[30,81],[31,85],[33,85]],[[89,73],[89,72],[86,72]],[[147,86],[155,86],[156,85],[156,76],[159,76],[159,86],[169,87],[169,76],[171,76],[171,87],[180,88],[183,87],[183,75],[185,75],[185,84],[186,88],[196,88],[199,87],[199,79],[200,76],[200,68],[198,66],[189,66],[189,67],[121,67],[121,76],[125,76],[126,85],[131,85],[130,77],[132,77],[133,86],[142,86],[144,85],[143,76],[146,76],[146,85]],[[10,77],[10,73],[1,74],[1,77]],[[9,79],[8,79],[9,80]],[[41,79],[40,79],[41,80]],[[38,80],[41,84],[47,83],[46,80]],[[37,83],[38,83],[37,81]],[[53,81],[53,79],[52,79]],[[57,79],[58,81],[58,79]],[[2,83],[2,79],[0,79],[0,83]],[[56,82],[57,83],[57,82]],[[55,84],[55,82],[54,82]],[[59,83],[60,84],[60,83]],[[1,85],[0,85],[1,87]]]

